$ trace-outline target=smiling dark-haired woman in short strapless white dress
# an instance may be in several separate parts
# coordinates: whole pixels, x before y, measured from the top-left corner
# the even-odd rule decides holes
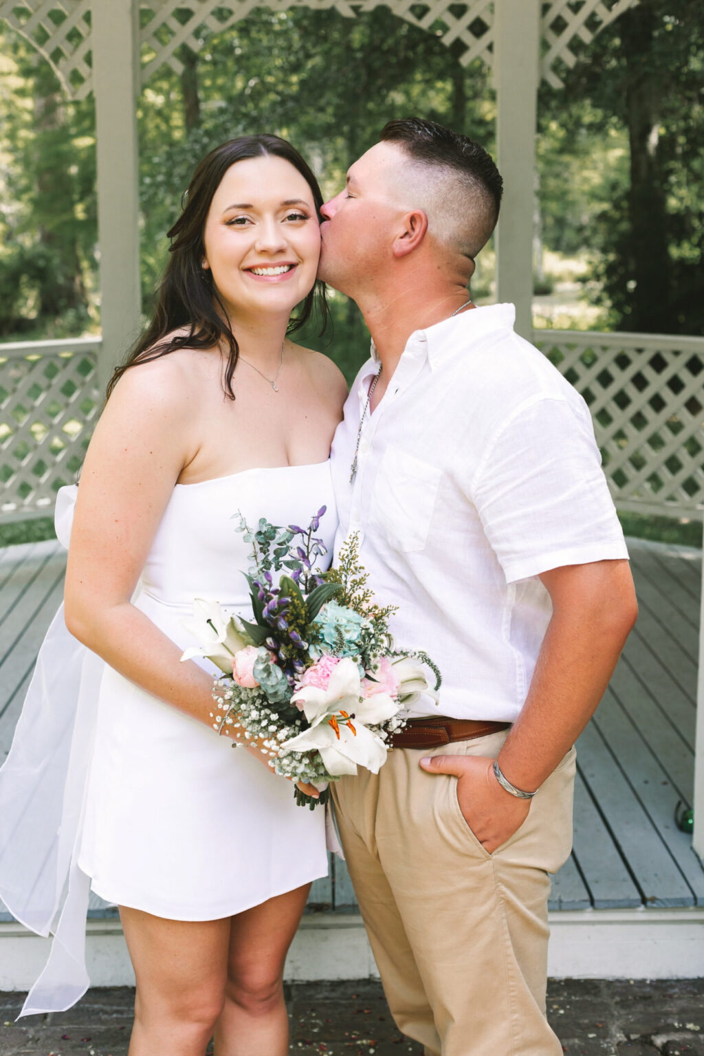
[[[81,473],[65,623],[108,666],[74,879],[120,908],[130,1056],[202,1056],[213,1033],[217,1056],[288,1051],[283,965],[326,872],[323,812],[298,808],[255,748],[229,750],[212,674],[179,658],[195,597],[247,610],[236,513],[288,524],[332,506],[346,386],[286,336],[317,296],[321,203],[275,136],[201,163],[154,321],[115,373]],[[331,512],[321,528],[331,546]]]

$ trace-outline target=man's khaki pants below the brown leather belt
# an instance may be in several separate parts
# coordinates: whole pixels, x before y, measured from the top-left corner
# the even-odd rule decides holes
[[[470,830],[457,781],[427,755],[496,757],[506,731],[396,749],[379,774],[332,785],[340,836],[384,993],[426,1056],[562,1056],[545,1018],[550,879],[570,853],[572,749],[494,854]]]

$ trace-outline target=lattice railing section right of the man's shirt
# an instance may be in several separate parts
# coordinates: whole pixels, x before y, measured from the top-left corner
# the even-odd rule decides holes
[[[619,509],[702,515],[704,339],[534,331],[589,404]]]

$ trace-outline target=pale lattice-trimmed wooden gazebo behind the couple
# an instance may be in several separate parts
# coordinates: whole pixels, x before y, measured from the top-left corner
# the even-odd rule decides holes
[[[139,327],[135,99],[141,86],[165,63],[180,72],[180,45],[187,44],[197,52],[208,35],[226,31],[245,18],[258,3],[260,0],[0,0],[0,18],[31,41],[51,64],[66,96],[80,99],[91,92],[95,96],[102,327],[100,338],[0,345],[0,474],[4,482],[0,522],[52,511],[57,488],[71,482],[80,460],[100,411],[100,394],[113,366]],[[594,36],[636,3],[638,0],[421,0],[420,3],[388,0],[386,6],[399,19],[437,34],[446,45],[461,41],[463,52],[459,61],[463,65],[480,57],[492,69],[497,97],[498,165],[506,184],[496,235],[498,300],[515,303],[518,332],[549,355],[588,400],[616,505],[624,510],[701,518],[704,503],[704,393],[701,381],[704,340],[663,335],[534,331],[532,325],[533,175],[538,86],[543,78],[558,88],[565,69],[582,61],[578,55]],[[315,11],[332,7],[346,18],[355,18],[377,6],[378,0],[267,0],[266,5],[282,11],[292,6],[307,7],[311,18]],[[196,30],[199,31],[197,35]],[[40,564],[43,561],[41,569],[52,568],[54,572],[37,572],[32,580],[32,583],[45,580],[45,590],[41,601],[37,601],[32,619],[27,620],[24,644],[12,635],[7,638],[5,659],[11,658],[8,664],[12,666],[12,657],[18,649],[23,649],[23,659],[16,665],[16,672],[12,668],[14,674],[7,666],[3,670],[4,660],[0,662],[0,760],[12,736],[22,686],[26,684],[43,633],[41,628],[51,618],[51,606],[58,597],[62,559],[55,550],[50,550],[51,547],[45,551],[46,557],[37,557]],[[5,579],[12,582],[16,574],[11,571],[12,558],[6,557],[7,552],[0,562],[0,601]],[[671,928],[676,923],[687,927],[704,925],[704,911],[697,909],[704,904],[704,871],[700,862],[704,856],[704,761],[701,761],[704,760],[704,648],[699,629],[704,621],[699,618],[699,602],[695,600],[695,595],[699,597],[697,581],[701,571],[692,551],[678,552],[677,548],[670,548],[666,553],[657,550],[657,545],[655,548],[645,545],[639,554],[643,593],[650,599],[648,605],[653,610],[654,622],[649,639],[644,631],[640,659],[627,658],[627,663],[643,683],[644,692],[654,694],[662,678],[663,684],[666,683],[663,693],[669,694],[672,686],[679,686],[677,692],[681,691],[683,700],[687,698],[692,704],[697,700],[696,734],[695,720],[689,713],[683,718],[689,733],[679,728],[676,731],[683,743],[687,739],[693,743],[696,739],[695,758],[700,760],[695,768],[693,792],[684,795],[685,805],[688,802],[695,810],[693,847],[697,853],[691,854],[680,840],[681,836],[689,838],[685,833],[674,834],[673,823],[672,833],[669,832],[665,814],[661,816],[660,808],[649,798],[652,788],[647,795],[639,791],[641,780],[646,786],[657,781],[644,776],[646,771],[642,770],[643,759],[635,757],[638,752],[633,753],[632,771],[619,760],[614,767],[606,741],[612,734],[616,736],[617,730],[614,728],[615,733],[612,731],[608,735],[597,730],[598,736],[587,732],[582,776],[586,791],[583,790],[583,798],[578,799],[577,831],[582,825],[582,831],[590,835],[583,841],[582,850],[577,845],[576,857],[558,874],[554,888],[553,923],[564,924],[567,944],[574,943],[578,927],[586,920],[585,912],[590,914],[588,921],[593,927],[597,927],[597,914],[606,913],[604,925],[611,928],[612,938],[623,936],[626,946],[630,942],[626,934],[631,935],[629,929],[634,923],[642,928],[650,927],[647,935],[652,941],[664,934],[665,927]],[[3,570],[8,573],[4,579]],[[684,602],[678,595],[678,584],[687,595]],[[659,598],[664,599],[660,617]],[[37,614],[44,610],[47,618],[42,623]],[[0,604],[0,617],[2,612]],[[671,619],[670,612],[674,614]],[[686,677],[676,671],[677,657],[669,664],[661,663],[658,670],[652,665],[659,637],[672,634],[679,626],[676,617],[682,620],[682,631],[676,630],[674,637],[679,636],[680,644],[686,642],[689,649],[687,662],[691,671],[687,667]],[[662,627],[664,622],[669,622],[670,626]],[[676,644],[673,642],[672,648]],[[692,649],[697,653],[693,659]],[[620,677],[623,681],[623,676]],[[612,692],[620,695],[623,708],[626,708],[623,701],[630,700],[634,714],[638,694],[634,695],[632,687],[624,689],[620,684],[612,683]],[[653,700],[658,704],[654,696]],[[662,701],[661,712],[664,712],[668,701],[662,696],[659,700]],[[684,716],[684,703],[682,710]],[[663,738],[668,741],[674,736],[674,725],[671,716],[665,718],[669,727],[665,729],[667,722],[663,727]],[[654,721],[661,722],[662,716],[655,716]],[[627,747],[629,735],[622,733],[622,736]],[[646,755],[650,752],[654,758],[655,747],[646,748]],[[689,751],[691,753],[691,748]],[[677,755],[676,750],[673,755]],[[670,766],[663,759],[658,765],[663,773]],[[636,774],[640,776],[634,776]],[[652,853],[644,850],[644,856],[652,860],[654,854],[653,861],[659,862],[658,855],[663,847],[666,848],[663,862],[674,863],[677,878],[683,881],[679,887],[680,880],[674,883],[671,889],[674,893],[668,893],[667,885],[661,890],[660,881],[655,880],[652,888],[655,893],[648,893],[650,881],[644,880],[639,872],[641,866],[635,863],[635,850],[631,853],[628,849],[628,832],[625,828],[622,832],[613,813],[615,808],[605,805],[606,800],[600,802],[602,780],[613,797],[620,794],[617,790],[622,786],[619,782],[623,782],[624,788],[630,787],[633,802],[638,799],[641,804],[643,816],[652,824],[657,835],[653,847],[657,844],[658,849]],[[671,814],[669,802],[665,813],[667,811]],[[614,866],[611,872],[606,869],[603,874],[598,871],[598,860],[606,852],[591,849],[589,843],[596,840],[602,830],[606,841],[604,847],[613,848],[619,857],[617,868]],[[609,853],[611,851],[606,853],[606,859]],[[687,853],[691,854],[691,860],[687,859]],[[592,860],[594,871],[588,865]],[[669,867],[669,864],[663,865],[665,872]],[[647,871],[647,866],[643,868]],[[659,867],[653,868],[657,872]],[[661,880],[663,869],[658,873]],[[328,940],[335,937],[337,943],[347,934],[357,976],[372,970],[363,932],[354,916],[355,902],[348,879],[339,866],[336,870],[334,882],[319,882],[319,889],[311,895],[317,905],[331,907],[332,911],[307,918],[307,930],[304,928],[304,938],[292,953],[291,970],[302,973],[298,978],[313,978],[306,976],[309,943],[317,943],[320,974],[330,977],[336,972],[339,974],[337,962],[325,951],[329,947]],[[607,888],[610,893],[600,899],[600,890],[604,894]],[[685,888],[687,893],[683,893]],[[5,942],[15,942],[17,963],[26,966],[27,975],[33,970],[28,965],[34,964],[35,955],[26,954],[26,939],[7,914],[3,918],[2,908],[0,905],[0,940],[4,935]],[[665,914],[662,920],[658,917],[661,909]],[[578,917],[581,912],[582,918]],[[89,935],[94,934],[96,941],[100,935],[111,937],[118,932],[118,923],[111,918],[110,910],[96,903],[93,914],[96,919]],[[691,938],[695,930],[691,929]],[[586,934],[584,929],[579,932],[582,938]],[[570,960],[566,954],[564,969],[560,962],[556,974],[578,974],[579,964],[584,967],[583,974],[598,974],[600,958],[607,947],[603,939],[596,937],[596,931],[590,935],[594,937],[591,959],[587,954],[586,960],[583,958],[578,962],[578,959]],[[586,948],[590,941],[587,937],[583,946]],[[634,945],[631,959],[626,958],[615,974],[638,975],[636,961],[641,956],[638,949],[641,948]],[[672,958],[681,956],[681,947],[678,947]],[[677,974],[671,967],[674,961],[665,961],[662,974]],[[685,959],[685,963],[691,975],[700,974],[704,967],[701,955],[692,954],[690,961]],[[555,965],[552,967],[555,970]],[[24,979],[23,970],[18,969],[17,985],[22,985],[22,981],[17,980]],[[101,979],[120,981],[119,970],[114,969],[111,975],[106,969],[103,977],[98,973],[96,982]],[[658,970],[655,967],[649,974],[657,975]],[[0,988],[8,985],[0,972]]]

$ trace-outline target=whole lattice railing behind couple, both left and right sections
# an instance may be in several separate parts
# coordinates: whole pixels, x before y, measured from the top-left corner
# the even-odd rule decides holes
[[[701,516],[704,339],[534,331],[587,400],[616,506]],[[101,407],[98,338],[0,344],[0,521],[51,513]]]

